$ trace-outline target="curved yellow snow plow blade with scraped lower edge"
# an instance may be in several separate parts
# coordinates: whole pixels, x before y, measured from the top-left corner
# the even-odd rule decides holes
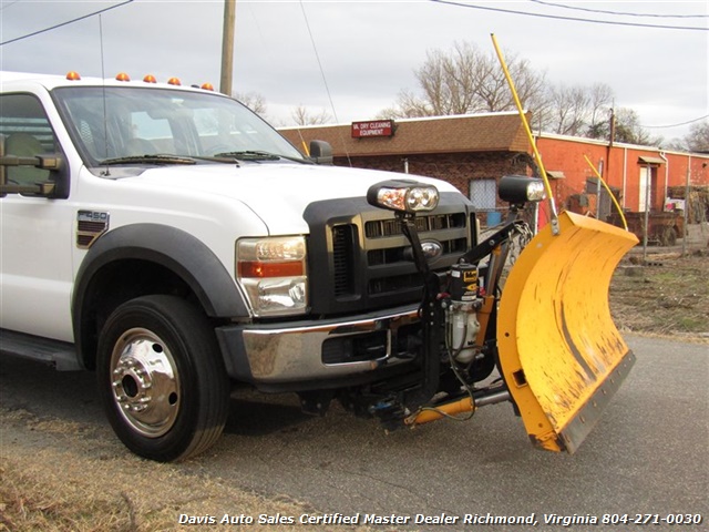
[[[500,301],[500,364],[532,442],[576,451],[635,356],[610,317],[608,287],[631,233],[573,213],[524,248]]]

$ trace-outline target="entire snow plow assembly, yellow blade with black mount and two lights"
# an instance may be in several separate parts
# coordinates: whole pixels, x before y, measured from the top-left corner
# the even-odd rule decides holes
[[[573,453],[634,361],[610,318],[607,288],[637,238],[562,213],[558,226],[547,225],[522,250],[501,290],[511,239],[528,232],[518,213],[544,197],[544,186],[526,176],[505,176],[500,196],[512,205],[507,219],[460,257],[442,287],[429,269],[414,222],[418,212],[435,208],[438,191],[409,180],[369,190],[370,204],[397,213],[424,279],[421,379],[399,393],[400,421],[469,419],[477,407],[511,401],[536,447]],[[494,357],[502,379],[476,388],[479,379],[466,368],[483,355]],[[455,389],[441,381],[443,362],[458,379]]]

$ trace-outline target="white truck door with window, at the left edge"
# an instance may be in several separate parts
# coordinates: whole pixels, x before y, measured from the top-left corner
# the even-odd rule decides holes
[[[4,155],[61,152],[37,96],[0,95],[0,111]],[[31,185],[50,177],[48,170],[32,166],[2,166],[0,172],[2,184]],[[0,194],[0,328],[72,341],[69,203],[33,194]]]

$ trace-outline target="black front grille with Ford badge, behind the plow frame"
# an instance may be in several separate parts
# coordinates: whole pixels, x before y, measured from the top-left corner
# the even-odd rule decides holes
[[[314,314],[362,313],[418,303],[422,280],[411,246],[393,213],[363,198],[317,202],[305,213],[310,226],[308,265]],[[463,196],[443,194],[438,209],[417,216],[421,242],[440,245],[429,263],[446,272],[474,243]]]

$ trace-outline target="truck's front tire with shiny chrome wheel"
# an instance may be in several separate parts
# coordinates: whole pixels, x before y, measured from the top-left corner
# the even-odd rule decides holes
[[[213,328],[183,299],[132,299],[99,338],[99,392],[116,436],[134,453],[184,460],[222,434],[229,382]]]

